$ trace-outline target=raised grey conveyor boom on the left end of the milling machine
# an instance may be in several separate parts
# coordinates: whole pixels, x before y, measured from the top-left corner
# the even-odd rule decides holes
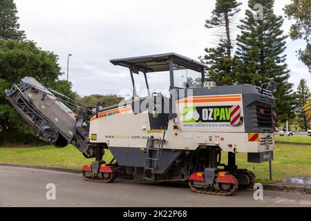
[[[37,80],[24,77],[6,90],[6,99],[32,126],[36,137],[57,147],[73,140],[76,124],[73,111]]]

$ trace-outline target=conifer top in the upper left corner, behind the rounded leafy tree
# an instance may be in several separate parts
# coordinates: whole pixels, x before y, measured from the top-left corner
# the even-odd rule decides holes
[[[0,0],[0,38],[21,40],[25,39],[23,30],[17,23],[17,9],[13,0]]]

